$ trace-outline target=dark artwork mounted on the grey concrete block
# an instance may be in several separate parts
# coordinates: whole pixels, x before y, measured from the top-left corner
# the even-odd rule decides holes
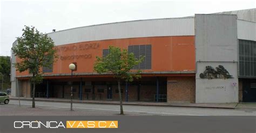
[[[205,67],[205,71],[203,73],[200,73],[199,75],[200,78],[233,78],[232,75],[223,67],[223,65],[219,65],[216,67],[216,70],[208,65]]]

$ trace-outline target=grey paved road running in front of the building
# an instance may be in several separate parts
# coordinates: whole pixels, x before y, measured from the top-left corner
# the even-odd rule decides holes
[[[31,101],[21,100],[22,107],[18,107],[18,100],[11,100],[9,105],[0,104],[0,115],[118,115],[119,105],[105,104],[73,104],[74,112],[70,112],[68,102],[36,101],[36,108],[31,108]],[[126,115],[235,115],[256,116],[254,110],[191,108],[191,107],[156,107],[125,105]]]

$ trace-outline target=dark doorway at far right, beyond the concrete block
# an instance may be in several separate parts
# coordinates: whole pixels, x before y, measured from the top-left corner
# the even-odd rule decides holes
[[[242,79],[242,101],[256,101],[256,79]]]

